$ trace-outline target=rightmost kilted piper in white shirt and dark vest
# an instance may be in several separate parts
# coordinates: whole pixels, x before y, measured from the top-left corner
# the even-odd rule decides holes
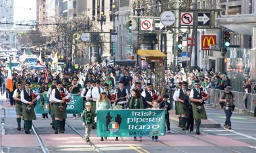
[[[195,125],[197,127],[196,134],[200,134],[200,124],[201,119],[207,119],[207,115],[205,113],[204,101],[210,97],[207,95],[203,97],[203,91],[199,89],[200,83],[199,81],[195,81],[195,88],[191,91],[189,95],[189,99],[192,101],[192,110],[193,110],[193,118],[195,119]]]

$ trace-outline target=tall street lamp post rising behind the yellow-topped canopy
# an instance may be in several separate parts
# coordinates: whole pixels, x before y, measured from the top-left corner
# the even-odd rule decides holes
[[[142,7],[141,8],[141,0],[137,0],[137,3],[134,1],[133,4],[132,4],[132,7],[133,7],[133,16],[135,16],[135,11],[137,11],[137,50],[136,50],[136,66],[138,68],[139,66],[139,55],[138,55],[138,50],[140,48],[139,46],[139,16],[140,16],[140,13],[142,11],[142,15],[144,15],[144,11],[145,9]]]

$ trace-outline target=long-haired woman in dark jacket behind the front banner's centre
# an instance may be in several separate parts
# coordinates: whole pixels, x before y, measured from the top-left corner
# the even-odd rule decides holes
[[[127,107],[129,109],[145,109],[146,105],[148,103],[144,99],[144,97],[141,96],[141,92],[139,89],[133,89],[131,91],[131,97],[128,100]],[[137,138],[134,137],[134,141],[137,141]],[[139,136],[139,142],[142,141],[142,137]]]

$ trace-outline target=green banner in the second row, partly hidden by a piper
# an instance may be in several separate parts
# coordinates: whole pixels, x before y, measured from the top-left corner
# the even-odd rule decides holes
[[[42,105],[41,103],[41,99],[42,99],[42,94],[40,95],[40,99],[37,101],[36,103],[36,107],[35,112],[36,113],[49,113],[49,105],[47,105],[46,103],[49,104],[49,99],[48,97],[45,95],[44,96],[44,105]],[[67,113],[69,114],[73,114],[73,113],[82,113],[82,111],[84,110],[83,108],[83,99],[81,97],[81,95],[71,95],[71,100],[67,105]]]

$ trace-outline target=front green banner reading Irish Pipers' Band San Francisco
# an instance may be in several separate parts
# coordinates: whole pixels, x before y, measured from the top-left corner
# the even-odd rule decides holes
[[[97,111],[98,137],[164,136],[165,109]]]

